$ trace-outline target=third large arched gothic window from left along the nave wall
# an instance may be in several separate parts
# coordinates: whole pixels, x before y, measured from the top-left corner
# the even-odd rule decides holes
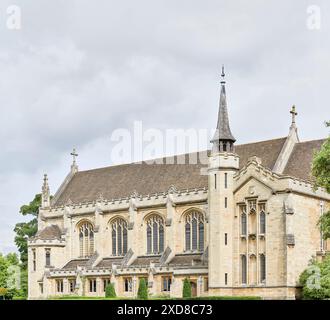
[[[152,215],[146,221],[147,253],[158,254],[164,251],[164,220],[159,215]]]

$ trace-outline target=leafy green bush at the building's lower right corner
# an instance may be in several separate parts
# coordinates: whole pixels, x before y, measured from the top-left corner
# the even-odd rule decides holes
[[[299,278],[302,285],[302,297],[306,300],[323,300],[330,298],[330,255],[322,262],[310,261]]]

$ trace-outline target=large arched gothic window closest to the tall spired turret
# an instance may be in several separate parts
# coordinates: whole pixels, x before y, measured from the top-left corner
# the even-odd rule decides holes
[[[204,251],[204,216],[192,211],[185,218],[186,251]]]

